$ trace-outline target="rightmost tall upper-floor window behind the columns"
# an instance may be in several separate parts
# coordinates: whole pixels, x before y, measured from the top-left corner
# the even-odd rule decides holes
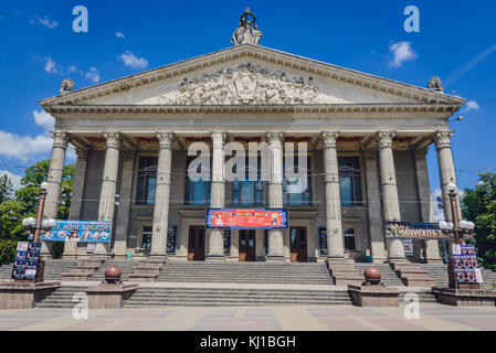
[[[358,157],[339,157],[339,193],[342,206],[359,206],[361,197],[360,159]]]

